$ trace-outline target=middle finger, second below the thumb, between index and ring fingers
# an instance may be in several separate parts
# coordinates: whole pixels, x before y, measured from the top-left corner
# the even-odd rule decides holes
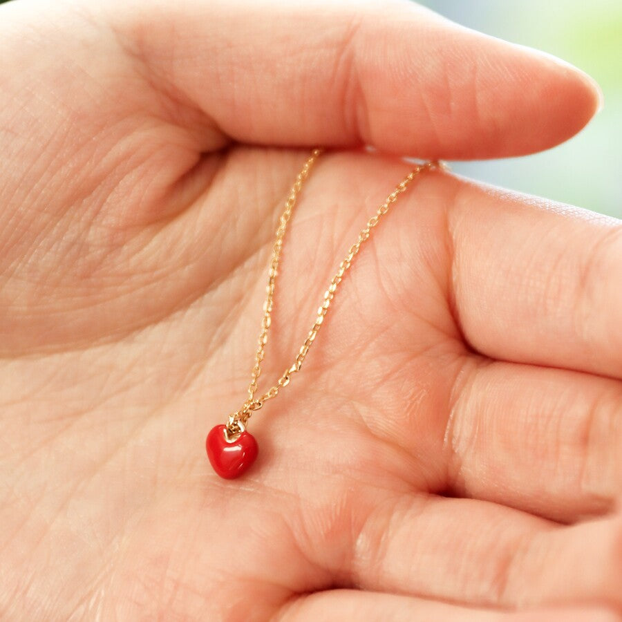
[[[607,511],[622,493],[621,416],[618,381],[471,361],[445,433],[452,490],[562,521]]]

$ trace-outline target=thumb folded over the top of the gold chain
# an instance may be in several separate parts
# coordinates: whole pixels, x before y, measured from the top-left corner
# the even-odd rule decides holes
[[[242,142],[516,156],[569,138],[599,104],[592,81],[567,64],[406,0],[88,10],[151,84]]]

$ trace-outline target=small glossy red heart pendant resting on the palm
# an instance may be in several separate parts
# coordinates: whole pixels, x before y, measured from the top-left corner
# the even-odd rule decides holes
[[[214,471],[225,480],[233,480],[255,462],[259,448],[255,437],[247,431],[243,431],[236,439],[229,440],[226,427],[220,425],[211,428],[205,441],[205,449]]]

